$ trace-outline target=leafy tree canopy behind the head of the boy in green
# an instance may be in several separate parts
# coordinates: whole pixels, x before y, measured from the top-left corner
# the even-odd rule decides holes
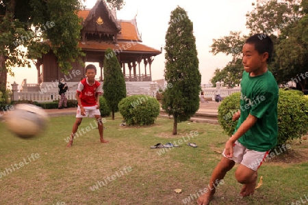
[[[246,14],[246,26],[250,29],[249,36],[255,33],[266,33],[274,41],[274,57],[269,64],[277,83],[294,81],[301,90],[307,89],[307,79],[303,74],[308,71],[308,0],[300,3],[295,0],[259,0],[255,8]],[[212,83],[216,79],[239,79],[238,70],[242,70],[240,61],[242,45],[248,36],[231,31],[230,36],[214,39],[211,53],[233,55],[232,61],[222,70],[214,73]],[[262,38],[262,36],[260,36]],[[236,68],[230,68],[230,64]],[[218,74],[218,77],[216,77]],[[224,74],[223,77],[222,74]],[[298,76],[301,76],[298,79]],[[295,81],[295,79],[298,81]],[[222,80],[224,81],[224,80]],[[230,82],[230,81],[229,81]],[[230,83],[235,83],[231,81]],[[226,84],[226,83],[225,83]]]

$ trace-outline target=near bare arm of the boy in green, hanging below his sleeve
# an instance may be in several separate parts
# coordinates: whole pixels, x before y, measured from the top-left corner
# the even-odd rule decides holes
[[[255,122],[257,122],[257,120],[257,117],[249,114],[246,120],[238,128],[238,131],[236,131],[236,133],[234,133],[234,135],[230,137],[230,139],[224,146],[224,148],[226,149],[224,151],[224,154],[226,154],[227,157],[232,157],[233,155],[233,143],[235,143],[236,140],[242,137],[242,135],[244,135],[255,124]]]

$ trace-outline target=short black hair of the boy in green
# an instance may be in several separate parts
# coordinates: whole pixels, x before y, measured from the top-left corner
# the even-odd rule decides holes
[[[264,37],[265,36],[265,37]],[[270,36],[265,33],[256,33],[255,35],[247,38],[246,44],[255,44],[255,50],[259,54],[268,53],[268,63],[272,59],[272,53],[274,51],[274,44]]]

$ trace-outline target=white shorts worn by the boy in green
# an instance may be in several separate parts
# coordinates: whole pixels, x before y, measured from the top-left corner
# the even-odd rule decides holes
[[[228,159],[231,159],[235,163],[240,163],[249,169],[257,171],[257,169],[259,169],[262,163],[266,160],[266,156],[268,156],[269,152],[270,150],[266,152],[249,150],[237,140],[233,143],[233,156],[227,157],[224,154],[224,151],[222,152],[222,155]]]

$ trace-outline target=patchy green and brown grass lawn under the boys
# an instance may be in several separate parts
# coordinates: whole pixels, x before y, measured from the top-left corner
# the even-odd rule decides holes
[[[85,118],[79,126],[84,133],[71,148],[65,139],[73,115],[50,118],[46,131],[33,139],[15,137],[0,122],[0,204],[196,204],[228,139],[214,124],[181,122],[174,136],[168,118],[144,127],[119,126],[119,113],[116,120],[106,120],[110,143],[100,143],[94,119]],[[198,148],[183,142],[191,132]],[[150,148],[180,140],[179,148]],[[261,166],[263,185],[253,197],[240,197],[242,185],[232,169],[211,204],[308,203],[308,141],[290,146],[289,155],[279,154]]]

